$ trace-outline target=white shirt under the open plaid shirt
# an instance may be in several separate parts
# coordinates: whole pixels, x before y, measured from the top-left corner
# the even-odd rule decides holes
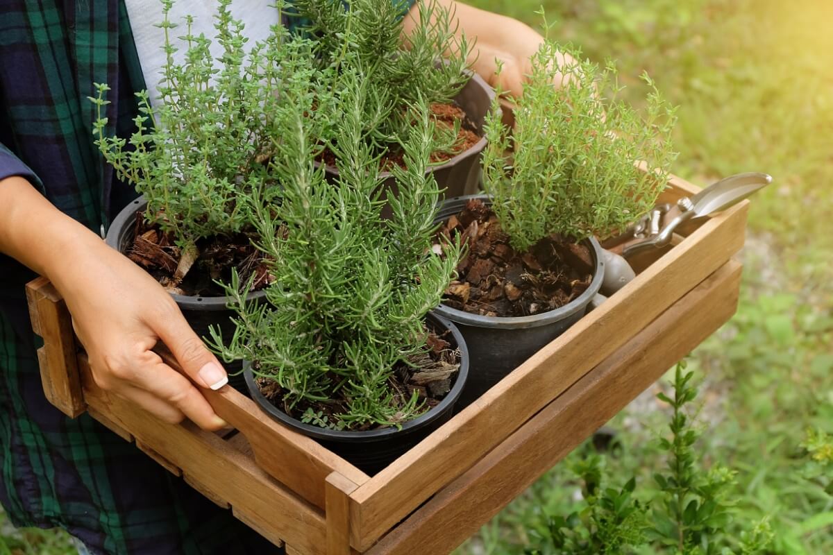
[[[165,30],[154,26],[162,22],[162,2],[160,0],[126,0],[125,4],[151,106],[157,108],[162,104],[159,100],[158,84],[162,78],[162,66],[165,65],[166,56],[163,50]],[[234,0],[232,2],[232,17],[241,19],[246,26],[243,33],[249,39],[246,43],[248,48],[254,46],[255,42],[265,40],[269,36],[269,27],[278,22],[278,12],[275,7],[272,7],[273,5],[273,0]],[[201,33],[204,34],[212,41],[212,55],[215,58],[220,56],[222,47],[214,40],[217,35],[217,29],[214,28],[217,22],[214,18],[217,15],[217,0],[177,0],[167,15],[168,21],[177,24],[177,27],[171,29],[169,33],[172,46],[178,48],[173,54],[174,62],[182,63],[185,60],[187,44],[180,41],[178,37],[186,34],[185,17],[189,14],[194,17],[193,35],[199,37]]]

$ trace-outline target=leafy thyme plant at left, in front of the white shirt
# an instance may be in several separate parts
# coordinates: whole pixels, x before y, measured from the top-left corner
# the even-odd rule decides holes
[[[271,37],[247,48],[243,24],[229,11],[231,0],[218,0],[215,28],[222,53],[212,57],[211,40],[192,32],[187,17],[180,44],[182,63],[174,60],[174,33],[168,15],[172,0],[162,1],[167,60],[159,86],[162,105],[152,107],[147,91],[137,93],[140,114],[127,139],[104,136],[102,108],[109,87],[97,85],[96,144],[117,175],[147,200],[149,223],[171,232],[177,244],[194,249],[196,241],[230,235],[250,221],[242,193],[272,196],[273,180],[262,164],[280,126],[277,107],[284,100],[272,92],[301,67],[312,71],[312,42],[288,40],[281,26]]]

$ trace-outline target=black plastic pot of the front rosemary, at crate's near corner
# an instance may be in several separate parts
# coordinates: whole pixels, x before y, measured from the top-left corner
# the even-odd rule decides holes
[[[433,314],[426,315],[426,324],[437,333],[451,330],[449,343],[452,349],[456,348],[460,353],[460,369],[457,371],[453,385],[451,385],[451,391],[446,394],[440,403],[416,419],[402,424],[401,428],[392,427],[351,432],[304,424],[278,409],[263,396],[255,381],[255,375],[252,373],[252,365],[247,361],[243,363],[243,374],[246,376],[249,394],[272,419],[281,424],[286,424],[299,434],[316,439],[323,447],[337,453],[340,457],[372,476],[451,419],[457,399],[460,398],[465,387],[468,377],[469,356],[466,342],[463,340],[460,330],[457,330],[456,325],[451,322]]]

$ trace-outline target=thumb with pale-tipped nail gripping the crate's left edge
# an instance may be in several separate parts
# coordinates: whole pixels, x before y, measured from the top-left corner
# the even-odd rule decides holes
[[[220,389],[228,383],[228,374],[222,368],[222,364],[206,349],[202,339],[194,333],[178,310],[167,318],[160,318],[158,322],[148,322],[148,325],[159,335],[159,339],[162,339],[167,348],[171,349],[182,369],[197,384],[205,388]]]

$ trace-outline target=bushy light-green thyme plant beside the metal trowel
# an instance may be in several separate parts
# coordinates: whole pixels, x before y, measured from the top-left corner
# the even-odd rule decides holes
[[[676,157],[676,117],[643,79],[651,87],[644,117],[621,99],[612,63],[581,61],[580,51],[547,40],[531,58],[513,130],[501,124],[496,98],[486,116],[483,183],[517,250],[553,233],[606,236],[654,207]]]

